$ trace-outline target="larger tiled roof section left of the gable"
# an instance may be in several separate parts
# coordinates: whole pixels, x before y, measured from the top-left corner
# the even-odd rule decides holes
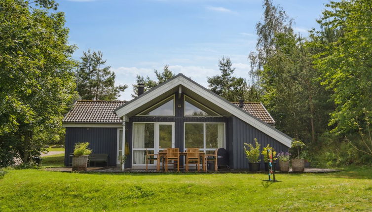
[[[63,122],[121,123],[113,110],[124,104],[123,101],[79,100],[66,114]]]

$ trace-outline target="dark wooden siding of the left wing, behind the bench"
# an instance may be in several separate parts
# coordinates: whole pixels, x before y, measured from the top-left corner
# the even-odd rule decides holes
[[[77,142],[89,142],[93,153],[109,154],[109,166],[116,166],[117,128],[66,128],[66,166]]]

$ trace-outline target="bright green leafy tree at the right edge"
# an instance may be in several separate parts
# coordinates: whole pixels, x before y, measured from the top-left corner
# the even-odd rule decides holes
[[[331,1],[318,20],[324,31],[314,35],[316,47],[323,50],[315,56],[316,68],[333,91],[336,108],[329,124],[337,134],[358,131],[356,118],[365,120],[363,111],[372,111],[371,5],[369,0]],[[371,113],[366,114],[370,119]]]

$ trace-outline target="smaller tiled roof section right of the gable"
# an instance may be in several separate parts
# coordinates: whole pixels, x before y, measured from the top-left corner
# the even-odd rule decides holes
[[[233,102],[232,104],[239,106],[239,103],[237,102]],[[261,103],[244,102],[244,106],[242,109],[249,112],[256,118],[261,119],[263,122],[267,124],[275,124],[274,119],[271,117],[271,115],[267,112],[266,108]]]

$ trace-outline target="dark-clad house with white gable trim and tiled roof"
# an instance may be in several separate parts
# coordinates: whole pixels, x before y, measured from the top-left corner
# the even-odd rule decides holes
[[[117,156],[124,153],[125,168],[141,169],[146,150],[199,147],[225,148],[231,168],[247,169],[245,142],[257,138],[261,146],[288,151],[292,139],[274,124],[261,103],[230,103],[180,73],[146,93],[139,87],[139,96],[129,102],[77,101],[63,119],[65,165],[74,143],[90,142],[94,153],[109,155],[109,166],[119,166]]]

